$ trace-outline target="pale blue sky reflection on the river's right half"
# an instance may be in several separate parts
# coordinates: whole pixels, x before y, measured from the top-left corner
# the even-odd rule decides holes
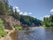
[[[36,40],[45,40],[45,29],[37,28],[33,35],[35,35]]]

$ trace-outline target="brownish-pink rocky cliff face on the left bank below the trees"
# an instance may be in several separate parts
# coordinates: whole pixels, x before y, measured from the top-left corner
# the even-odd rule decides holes
[[[16,20],[12,16],[6,17],[5,15],[0,15],[0,18],[4,20],[4,25],[6,29],[12,29],[12,27],[21,25],[20,21]]]

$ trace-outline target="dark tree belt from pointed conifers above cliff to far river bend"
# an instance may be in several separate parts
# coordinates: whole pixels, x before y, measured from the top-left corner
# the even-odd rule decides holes
[[[37,18],[33,18],[31,16],[20,15],[16,9],[14,12],[12,6],[10,6],[9,13],[10,13],[9,15],[13,16],[16,20],[19,20],[22,26],[23,25],[24,26],[41,26],[42,25],[41,23],[42,21]]]

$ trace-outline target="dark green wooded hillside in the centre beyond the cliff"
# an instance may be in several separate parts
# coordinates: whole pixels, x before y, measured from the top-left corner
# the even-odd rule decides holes
[[[22,22],[22,24],[26,24],[28,26],[32,26],[34,23],[34,26],[40,26],[41,25],[41,21],[30,17],[30,16],[22,16],[20,17],[20,22]]]

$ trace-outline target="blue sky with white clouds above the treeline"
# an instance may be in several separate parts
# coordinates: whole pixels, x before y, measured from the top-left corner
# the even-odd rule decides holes
[[[53,14],[53,0],[9,0],[9,5],[20,14],[29,15],[40,20]]]

